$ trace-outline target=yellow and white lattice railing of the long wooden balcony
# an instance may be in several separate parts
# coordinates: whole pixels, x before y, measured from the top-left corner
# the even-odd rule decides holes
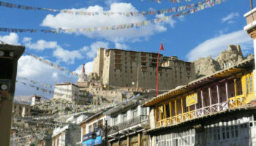
[[[159,120],[156,123],[156,127],[161,127],[161,126],[170,126],[176,123],[181,123],[186,120],[191,120],[193,118],[199,118],[203,117],[205,115],[210,115],[215,112],[220,112],[236,107],[240,107],[246,104],[246,97],[244,95],[232,97],[228,99],[227,101],[218,103],[218,104],[211,104],[208,107],[203,107],[197,110],[192,110],[189,112],[185,112],[183,114],[179,114],[170,118],[165,118],[163,120]]]

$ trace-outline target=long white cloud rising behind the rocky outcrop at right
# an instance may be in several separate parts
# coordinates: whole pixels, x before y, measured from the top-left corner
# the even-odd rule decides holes
[[[227,50],[228,45],[241,45],[242,51],[251,50],[253,46],[251,37],[244,30],[234,31],[230,34],[221,34],[218,37],[207,39],[192,49],[186,57],[189,61],[208,55],[215,58],[222,50]]]

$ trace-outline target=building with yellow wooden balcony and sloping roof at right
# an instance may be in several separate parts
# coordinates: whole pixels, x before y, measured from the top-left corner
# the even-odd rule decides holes
[[[254,58],[146,102],[149,145],[256,145]]]

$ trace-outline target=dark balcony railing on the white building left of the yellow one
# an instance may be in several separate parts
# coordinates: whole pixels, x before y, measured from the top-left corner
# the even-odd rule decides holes
[[[127,120],[123,123],[119,123],[116,126],[118,126],[118,130],[121,131],[121,130],[124,130],[125,128],[129,128],[129,127],[141,124],[141,123],[144,123],[144,124],[148,123],[148,115],[137,116],[137,117]],[[116,133],[116,131],[111,130],[109,134],[113,134],[113,133]]]

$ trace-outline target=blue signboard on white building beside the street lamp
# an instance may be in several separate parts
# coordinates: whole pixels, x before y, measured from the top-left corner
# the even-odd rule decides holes
[[[97,135],[96,139],[92,139],[92,134],[95,132]],[[83,143],[82,146],[92,146],[102,144],[102,136],[101,131],[96,130],[94,132],[90,132],[89,134],[83,135]]]

